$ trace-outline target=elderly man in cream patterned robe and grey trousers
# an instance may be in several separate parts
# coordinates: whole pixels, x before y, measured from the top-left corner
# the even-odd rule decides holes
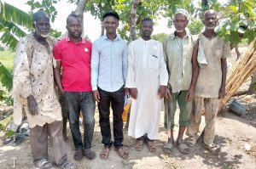
[[[14,121],[22,121],[26,111],[30,127],[30,144],[34,165],[50,168],[48,136],[51,138],[54,163],[67,169],[67,151],[62,136],[61,106],[55,94],[52,48],[55,39],[49,37],[49,17],[42,11],[32,16],[35,32],[20,39],[16,48],[14,68]]]

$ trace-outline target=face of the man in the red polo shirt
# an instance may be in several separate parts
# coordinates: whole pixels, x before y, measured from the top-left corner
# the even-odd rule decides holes
[[[67,20],[67,31],[68,35],[73,38],[79,38],[82,35],[82,26],[81,22],[76,17],[69,17]]]

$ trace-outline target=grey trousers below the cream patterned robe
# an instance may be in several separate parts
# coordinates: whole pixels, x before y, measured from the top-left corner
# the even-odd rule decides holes
[[[67,151],[62,135],[62,121],[46,123],[43,127],[30,128],[33,160],[48,159],[48,136],[53,146],[54,162],[57,166],[60,166],[67,161]]]

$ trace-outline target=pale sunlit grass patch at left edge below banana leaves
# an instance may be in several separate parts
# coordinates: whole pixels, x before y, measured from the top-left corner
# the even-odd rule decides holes
[[[13,70],[14,68],[14,59],[15,59],[15,54],[5,50],[5,51],[0,51],[0,62],[8,69],[8,70]]]

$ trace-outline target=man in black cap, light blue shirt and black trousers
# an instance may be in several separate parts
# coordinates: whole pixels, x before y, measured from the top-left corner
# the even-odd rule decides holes
[[[92,45],[91,55],[91,86],[93,96],[98,102],[100,127],[104,149],[100,154],[102,160],[107,160],[111,146],[115,147],[119,156],[128,157],[123,149],[122,113],[125,102],[125,79],[127,74],[127,44],[117,35],[119,15],[110,11],[103,15],[103,25],[106,36],[102,36]],[[113,109],[113,138],[109,123],[109,107]]]

